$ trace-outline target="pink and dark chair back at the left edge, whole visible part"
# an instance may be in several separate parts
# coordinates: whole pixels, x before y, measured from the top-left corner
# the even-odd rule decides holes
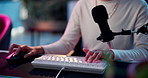
[[[4,14],[0,14],[0,50],[8,50],[10,45],[12,22]]]

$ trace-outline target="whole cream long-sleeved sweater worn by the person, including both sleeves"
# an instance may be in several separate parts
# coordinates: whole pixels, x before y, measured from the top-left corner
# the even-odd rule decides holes
[[[113,11],[117,1],[98,0],[97,5],[104,5],[107,12],[110,13]],[[64,35],[59,41],[42,46],[45,53],[67,54],[74,49],[80,37],[82,37],[83,47],[86,49],[108,50],[106,43],[96,40],[100,34],[100,29],[91,14],[92,8],[96,6],[95,2],[95,0],[78,1]],[[147,4],[142,0],[120,0],[116,12],[108,19],[109,26],[113,32],[120,32],[121,29],[137,30],[147,22]],[[148,59],[148,35],[116,36],[112,43],[115,60]]]

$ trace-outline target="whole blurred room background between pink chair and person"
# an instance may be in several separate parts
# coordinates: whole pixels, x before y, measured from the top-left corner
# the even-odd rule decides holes
[[[59,40],[77,0],[0,0],[13,23],[11,44],[38,46]]]

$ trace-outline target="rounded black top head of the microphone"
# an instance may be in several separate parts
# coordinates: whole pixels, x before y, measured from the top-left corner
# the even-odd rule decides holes
[[[92,9],[92,16],[96,23],[108,19],[108,13],[103,5],[96,6]]]

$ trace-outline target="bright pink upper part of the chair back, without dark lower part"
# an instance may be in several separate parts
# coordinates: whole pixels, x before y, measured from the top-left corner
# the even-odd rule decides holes
[[[0,20],[4,23],[4,24],[1,24],[0,22],[0,25],[4,25],[4,26],[0,26],[0,27],[4,27],[2,32],[0,33],[0,40],[1,40],[10,27],[11,19],[7,15],[0,14]]]

